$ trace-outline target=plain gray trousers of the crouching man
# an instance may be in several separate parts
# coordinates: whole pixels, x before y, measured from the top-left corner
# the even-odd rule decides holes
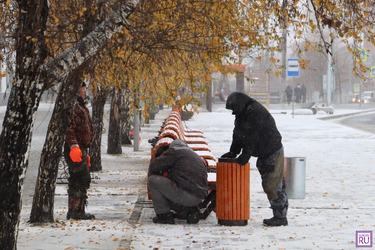
[[[171,179],[160,175],[151,175],[148,177],[148,188],[150,188],[151,199],[156,214],[171,212],[174,203],[192,207],[201,202],[201,199],[179,188]]]

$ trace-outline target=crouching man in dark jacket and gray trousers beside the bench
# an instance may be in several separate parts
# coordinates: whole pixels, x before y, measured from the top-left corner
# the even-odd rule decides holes
[[[174,224],[176,205],[189,207],[187,223],[198,223],[201,217],[198,204],[208,194],[207,167],[204,161],[183,140],[174,140],[169,149],[155,158],[148,167],[154,223]],[[168,178],[160,173],[168,171]],[[182,217],[184,217],[182,215]]]

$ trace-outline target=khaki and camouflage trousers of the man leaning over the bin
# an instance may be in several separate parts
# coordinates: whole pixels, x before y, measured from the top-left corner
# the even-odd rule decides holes
[[[261,174],[262,187],[267,194],[273,216],[287,217],[288,196],[285,193],[284,150],[267,158],[258,158],[257,168]]]

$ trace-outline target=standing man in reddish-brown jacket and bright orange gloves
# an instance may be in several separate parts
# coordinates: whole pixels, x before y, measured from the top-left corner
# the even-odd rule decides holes
[[[68,213],[66,219],[91,220],[95,215],[85,212],[87,189],[90,187],[90,157],[87,154],[93,139],[90,111],[86,107],[86,84],[83,83],[65,135],[64,158],[68,164]]]

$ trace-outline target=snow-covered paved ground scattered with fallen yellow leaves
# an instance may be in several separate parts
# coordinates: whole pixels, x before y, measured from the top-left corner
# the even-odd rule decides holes
[[[95,221],[65,220],[66,185],[55,196],[55,223],[27,223],[30,203],[23,203],[18,249],[353,249],[356,230],[375,228],[375,135],[319,120],[324,115],[294,116],[271,110],[283,136],[285,156],[306,157],[306,198],[290,199],[289,226],[265,227],[272,217],[260,175],[251,158],[250,220],[245,227],[218,226],[214,213],[199,224],[176,221],[175,225],[153,224],[151,206],[142,209],[138,223],[129,224],[132,202],[145,196],[150,145],[162,120],[171,109],[161,110],[149,128],[142,128],[141,152],[123,148],[120,156],[105,154],[103,168],[92,184],[88,212]],[[339,114],[359,110],[341,110]],[[335,114],[338,114],[335,113]],[[234,116],[218,107],[200,112],[186,127],[201,130],[212,153],[219,157],[229,150]],[[108,188],[108,189],[107,189]],[[122,190],[121,190],[122,189]],[[69,248],[71,247],[71,248]]]

